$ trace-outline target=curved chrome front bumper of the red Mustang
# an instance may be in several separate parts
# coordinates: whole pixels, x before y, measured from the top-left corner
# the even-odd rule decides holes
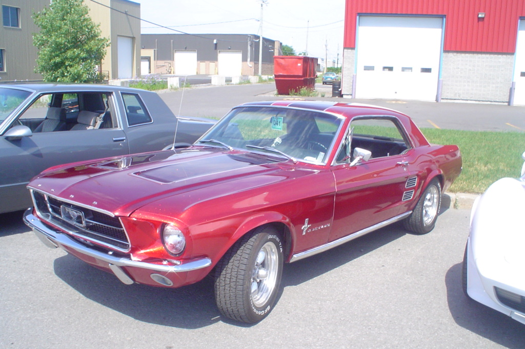
[[[179,265],[152,264],[132,261],[127,258],[121,258],[111,254],[91,250],[75,240],[72,240],[67,234],[49,228],[38,217],[36,217],[32,211],[33,208],[30,208],[24,213],[24,223],[29,228],[33,229],[33,232],[47,247],[62,248],[62,246],[65,246],[82,254],[91,256],[92,258],[107,262],[108,268],[113,271],[117,278],[128,285],[134,283],[134,281],[128,276],[128,273],[122,269],[122,266],[132,266],[134,268],[146,269],[152,272],[177,273],[206,268],[212,264],[212,260],[209,258],[198,258]]]

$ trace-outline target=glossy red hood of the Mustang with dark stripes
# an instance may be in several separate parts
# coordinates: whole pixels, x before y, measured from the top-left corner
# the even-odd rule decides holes
[[[282,159],[235,150],[166,150],[51,168],[28,187],[93,209],[130,215],[175,193],[291,166]]]

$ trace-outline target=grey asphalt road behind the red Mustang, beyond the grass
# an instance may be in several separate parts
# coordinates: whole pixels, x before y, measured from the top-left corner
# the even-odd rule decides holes
[[[525,132],[525,106],[475,102],[426,102],[414,100],[332,98],[330,85],[317,84],[319,97],[306,99],[333,100],[371,104],[395,109],[412,117],[420,128],[443,128],[471,131]],[[297,98],[278,96],[275,83],[246,85],[196,85],[160,94],[175,115],[224,116],[241,103],[260,100]],[[325,97],[320,97],[324,95]]]

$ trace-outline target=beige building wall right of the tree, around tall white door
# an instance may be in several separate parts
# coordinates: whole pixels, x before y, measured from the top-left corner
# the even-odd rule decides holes
[[[102,72],[109,79],[117,79],[119,71],[119,36],[132,39],[133,77],[140,76],[140,4],[128,0],[84,0],[89,7],[93,22],[100,25],[101,35],[110,39],[106,57],[102,60]],[[102,5],[101,5],[102,4]]]

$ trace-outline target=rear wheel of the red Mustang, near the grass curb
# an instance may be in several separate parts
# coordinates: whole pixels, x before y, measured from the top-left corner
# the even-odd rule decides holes
[[[404,226],[416,234],[426,234],[436,225],[441,207],[441,186],[437,179],[430,181],[412,214],[404,220]]]

